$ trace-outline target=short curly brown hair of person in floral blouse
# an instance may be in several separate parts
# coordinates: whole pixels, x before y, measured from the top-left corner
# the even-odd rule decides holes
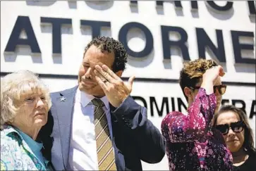
[[[190,61],[183,64],[183,69],[180,72],[179,83],[183,94],[185,96],[184,88],[185,87],[195,87],[197,82],[200,82],[202,75],[206,70],[217,66],[217,62],[211,59],[196,59],[195,61]],[[188,97],[185,96],[185,99],[188,101]]]

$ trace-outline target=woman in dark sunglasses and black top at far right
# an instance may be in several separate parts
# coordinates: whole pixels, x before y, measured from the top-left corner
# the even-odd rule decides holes
[[[256,150],[247,116],[235,106],[223,106],[214,115],[213,125],[224,137],[233,156],[234,170],[256,170]]]

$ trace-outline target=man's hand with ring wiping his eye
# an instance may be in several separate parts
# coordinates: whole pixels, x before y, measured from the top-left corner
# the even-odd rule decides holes
[[[133,80],[135,77],[130,77],[128,84],[124,83],[112,70],[106,65],[95,65],[95,78],[100,87],[102,87],[106,98],[112,106],[117,108],[130,95],[133,88]]]

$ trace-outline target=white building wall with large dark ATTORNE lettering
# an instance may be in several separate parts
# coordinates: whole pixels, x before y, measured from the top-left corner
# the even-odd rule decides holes
[[[73,87],[99,35],[126,46],[122,78],[135,75],[131,95],[159,129],[167,113],[187,108],[183,62],[212,58],[226,72],[222,103],[243,108],[255,134],[254,1],[1,1],[1,76],[32,70],[51,91]],[[168,161],[143,169],[168,170]]]

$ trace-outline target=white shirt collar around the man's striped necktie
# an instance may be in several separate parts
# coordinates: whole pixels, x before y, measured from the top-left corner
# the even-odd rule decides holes
[[[92,99],[95,99],[95,96],[92,96],[90,94],[85,93],[85,91],[80,91],[80,89],[78,88],[76,91],[76,101],[79,101],[83,107],[87,106],[89,103],[92,103]],[[100,98],[106,109],[109,109],[109,100],[106,98],[106,96],[103,96],[102,98]]]

